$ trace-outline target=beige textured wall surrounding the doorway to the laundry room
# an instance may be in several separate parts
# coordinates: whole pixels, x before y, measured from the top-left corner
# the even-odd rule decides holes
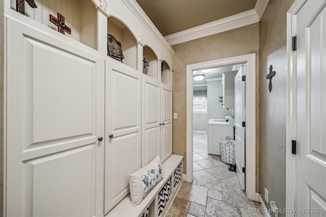
[[[173,119],[172,142],[173,153],[184,156],[183,173],[186,173],[186,65],[201,63],[208,60],[221,59],[248,53],[256,53],[256,82],[258,93],[259,75],[259,23],[233,29],[205,38],[185,42],[172,46],[175,51],[173,57],[173,112],[178,113],[178,119]],[[257,130],[258,100],[257,96]],[[257,136],[259,132],[257,131]],[[257,140],[257,144],[259,144]],[[257,154],[259,148],[257,147]],[[258,161],[258,155],[257,155]],[[258,164],[258,163],[257,163]],[[257,165],[258,166],[258,165]],[[257,168],[257,173],[259,169]],[[257,174],[258,181],[259,174]],[[257,182],[258,183],[258,182]],[[258,184],[257,184],[258,188]],[[259,190],[259,188],[257,189]]]

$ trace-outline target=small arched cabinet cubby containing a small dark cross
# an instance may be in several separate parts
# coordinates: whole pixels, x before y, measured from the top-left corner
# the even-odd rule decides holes
[[[143,49],[143,73],[158,80],[157,70],[157,56],[150,47],[145,46]]]

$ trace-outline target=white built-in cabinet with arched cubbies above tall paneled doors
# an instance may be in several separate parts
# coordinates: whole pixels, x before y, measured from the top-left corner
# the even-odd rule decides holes
[[[172,154],[174,51],[135,1],[35,2],[25,15],[4,4],[5,213],[105,216],[129,173]],[[49,22],[57,13],[71,35]]]

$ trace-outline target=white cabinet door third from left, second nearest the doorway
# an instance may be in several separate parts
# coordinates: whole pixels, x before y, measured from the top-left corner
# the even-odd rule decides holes
[[[160,155],[160,83],[143,78],[142,166]]]

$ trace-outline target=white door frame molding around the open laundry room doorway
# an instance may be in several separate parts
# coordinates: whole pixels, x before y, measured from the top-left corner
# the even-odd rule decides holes
[[[256,53],[205,61],[186,66],[186,181],[193,181],[193,71],[236,64],[246,69],[246,194],[258,201],[256,193]]]

